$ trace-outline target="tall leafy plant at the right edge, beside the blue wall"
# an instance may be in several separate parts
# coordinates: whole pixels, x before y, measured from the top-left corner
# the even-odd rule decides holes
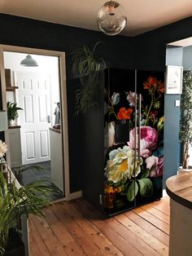
[[[180,141],[182,146],[182,170],[189,170],[190,146],[192,143],[192,72],[183,74],[181,94]]]

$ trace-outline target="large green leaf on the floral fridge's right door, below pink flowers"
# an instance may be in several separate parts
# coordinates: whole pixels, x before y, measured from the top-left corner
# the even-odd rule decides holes
[[[153,195],[153,183],[151,182],[151,179],[138,179],[138,183],[140,196],[150,197]]]

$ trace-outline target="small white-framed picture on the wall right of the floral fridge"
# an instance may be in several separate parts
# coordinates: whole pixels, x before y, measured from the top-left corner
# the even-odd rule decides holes
[[[166,90],[168,95],[181,95],[183,80],[183,67],[170,66],[166,67]]]

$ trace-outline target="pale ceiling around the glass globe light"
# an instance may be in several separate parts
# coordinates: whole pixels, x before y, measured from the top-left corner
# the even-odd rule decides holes
[[[192,0],[118,0],[128,18],[123,33],[135,36],[192,15]],[[0,13],[98,30],[97,13],[107,0],[0,0]]]

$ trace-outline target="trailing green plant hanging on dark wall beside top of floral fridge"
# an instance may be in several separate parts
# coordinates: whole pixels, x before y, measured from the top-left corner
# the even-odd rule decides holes
[[[72,53],[72,73],[74,77],[79,77],[81,82],[81,89],[75,91],[76,115],[98,106],[98,71],[106,68],[105,61],[102,58],[96,59],[94,55],[99,43],[101,42],[94,45],[93,50],[83,46]]]

